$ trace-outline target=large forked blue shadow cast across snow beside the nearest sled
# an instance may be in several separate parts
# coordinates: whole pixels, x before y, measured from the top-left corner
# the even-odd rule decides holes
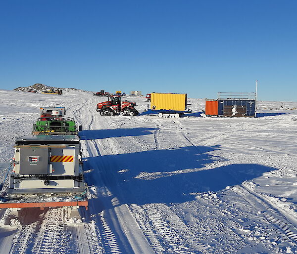
[[[234,164],[214,169],[204,167],[216,160],[209,152],[217,147],[182,147],[138,153],[85,158],[85,169],[100,165],[88,175],[88,184],[103,181],[120,203],[183,203],[191,193],[220,191],[275,170],[257,164]]]

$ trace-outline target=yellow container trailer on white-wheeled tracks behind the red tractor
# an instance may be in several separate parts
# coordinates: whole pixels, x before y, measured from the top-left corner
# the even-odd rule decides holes
[[[179,118],[192,113],[187,108],[187,93],[151,93],[150,109],[158,112],[158,117]]]

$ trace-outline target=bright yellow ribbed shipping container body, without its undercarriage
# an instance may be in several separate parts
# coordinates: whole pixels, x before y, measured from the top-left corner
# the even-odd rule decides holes
[[[184,111],[187,93],[151,93],[150,109]]]

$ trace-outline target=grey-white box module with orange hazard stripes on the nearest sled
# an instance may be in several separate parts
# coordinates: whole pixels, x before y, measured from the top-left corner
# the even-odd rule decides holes
[[[15,140],[7,193],[80,193],[85,190],[76,135],[27,135]]]

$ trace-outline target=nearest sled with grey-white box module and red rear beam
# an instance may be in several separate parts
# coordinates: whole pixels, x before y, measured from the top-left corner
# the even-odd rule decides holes
[[[23,208],[68,207],[76,217],[79,207],[88,208],[78,136],[26,135],[15,140],[14,150],[0,208],[18,214]]]

